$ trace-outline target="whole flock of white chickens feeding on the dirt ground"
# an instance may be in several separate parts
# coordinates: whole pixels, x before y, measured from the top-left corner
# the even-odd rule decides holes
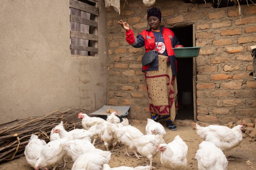
[[[83,129],[66,131],[63,122],[53,127],[50,142],[31,135],[25,147],[25,157],[35,170],[48,170],[53,166],[65,167],[68,156],[74,161],[72,170],[151,170],[153,158],[161,152],[161,165],[167,169],[185,170],[187,168],[186,143],[177,135],[168,144],[163,137],[166,135],[164,127],[148,119],[145,135],[136,127],[129,125],[123,118],[120,123],[117,112],[112,112],[106,120],[100,117],[90,117],[79,113]],[[223,151],[238,146],[242,141],[243,125],[232,129],[219,125],[197,127],[197,134],[204,138],[195,154],[199,170],[226,170],[228,161]],[[106,147],[101,150],[95,147],[97,140],[103,141]],[[138,159],[146,157],[149,164],[137,167],[110,167],[111,154],[118,147],[126,148],[126,155],[134,154]],[[111,148],[111,150],[110,150]],[[130,151],[130,152],[129,152]]]

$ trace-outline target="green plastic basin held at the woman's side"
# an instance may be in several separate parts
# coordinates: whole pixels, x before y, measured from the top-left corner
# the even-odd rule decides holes
[[[176,58],[190,58],[197,57],[199,55],[201,47],[181,47],[181,48],[172,48],[175,53]]]

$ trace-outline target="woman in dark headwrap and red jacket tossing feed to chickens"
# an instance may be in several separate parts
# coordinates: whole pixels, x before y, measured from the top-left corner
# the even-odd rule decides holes
[[[160,115],[166,120],[166,127],[176,130],[172,123],[175,119],[177,103],[177,66],[172,48],[183,47],[169,28],[160,26],[162,20],[161,11],[155,7],[147,10],[149,29],[143,30],[137,37],[127,22],[118,23],[126,30],[126,41],[135,48],[145,46],[145,51],[154,50],[157,45],[158,55],[154,62],[144,65],[142,72],[149,98],[149,108],[153,120],[158,121]],[[158,42],[159,40],[159,42]]]

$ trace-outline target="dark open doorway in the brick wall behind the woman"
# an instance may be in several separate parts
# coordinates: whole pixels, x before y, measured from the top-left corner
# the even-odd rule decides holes
[[[195,44],[195,36],[193,25],[186,25],[171,28],[174,34],[178,37],[180,44],[184,47],[193,47]],[[194,60],[194,61],[193,61]],[[178,106],[179,110],[176,118],[178,120],[195,120],[196,118],[196,104],[194,104],[193,90],[193,67],[195,63],[194,58],[177,58],[177,88],[178,88]],[[194,81],[195,82],[195,81]],[[196,100],[195,100],[196,103]],[[195,120],[196,121],[196,120]]]

